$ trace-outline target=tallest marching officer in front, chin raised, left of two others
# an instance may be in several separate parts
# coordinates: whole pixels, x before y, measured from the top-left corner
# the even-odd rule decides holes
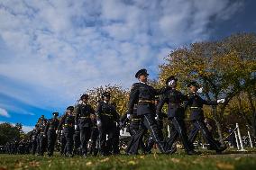
[[[155,105],[154,99],[156,95],[164,92],[165,89],[156,90],[147,84],[149,74],[146,69],[139,70],[135,77],[139,79],[139,83],[133,84],[128,104],[128,112],[133,115],[133,107],[138,103],[137,115],[142,117],[142,124],[151,132],[155,142],[158,144],[161,153],[169,153],[169,147],[161,138],[162,135],[158,130],[155,121]]]

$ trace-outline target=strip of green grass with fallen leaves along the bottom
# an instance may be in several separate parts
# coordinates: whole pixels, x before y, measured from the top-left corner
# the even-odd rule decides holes
[[[0,155],[0,170],[5,169],[256,169],[256,150],[224,152],[215,155],[205,151],[201,156],[187,156],[182,151],[174,155],[140,155],[114,157],[37,157],[31,155]]]

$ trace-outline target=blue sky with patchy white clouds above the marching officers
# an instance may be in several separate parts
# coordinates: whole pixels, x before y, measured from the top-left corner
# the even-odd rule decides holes
[[[88,88],[129,88],[171,49],[256,31],[253,0],[0,0],[0,122],[31,130]]]

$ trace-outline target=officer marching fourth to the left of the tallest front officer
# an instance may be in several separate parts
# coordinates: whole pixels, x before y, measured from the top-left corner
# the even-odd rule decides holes
[[[45,129],[45,133],[47,134],[47,150],[49,157],[53,155],[54,146],[57,139],[57,129],[59,126],[59,112],[52,112],[52,115],[53,118],[48,121]]]

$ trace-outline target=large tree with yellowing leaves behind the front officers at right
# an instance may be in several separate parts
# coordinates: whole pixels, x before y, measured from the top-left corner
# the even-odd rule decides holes
[[[181,86],[196,80],[204,87],[208,100],[226,98],[226,102],[212,112],[221,141],[226,106],[234,96],[255,86],[255,77],[251,76],[253,70],[255,72],[255,42],[256,35],[251,33],[236,34],[220,41],[192,43],[171,51],[167,63],[160,66],[161,84],[174,75],[178,76]]]

